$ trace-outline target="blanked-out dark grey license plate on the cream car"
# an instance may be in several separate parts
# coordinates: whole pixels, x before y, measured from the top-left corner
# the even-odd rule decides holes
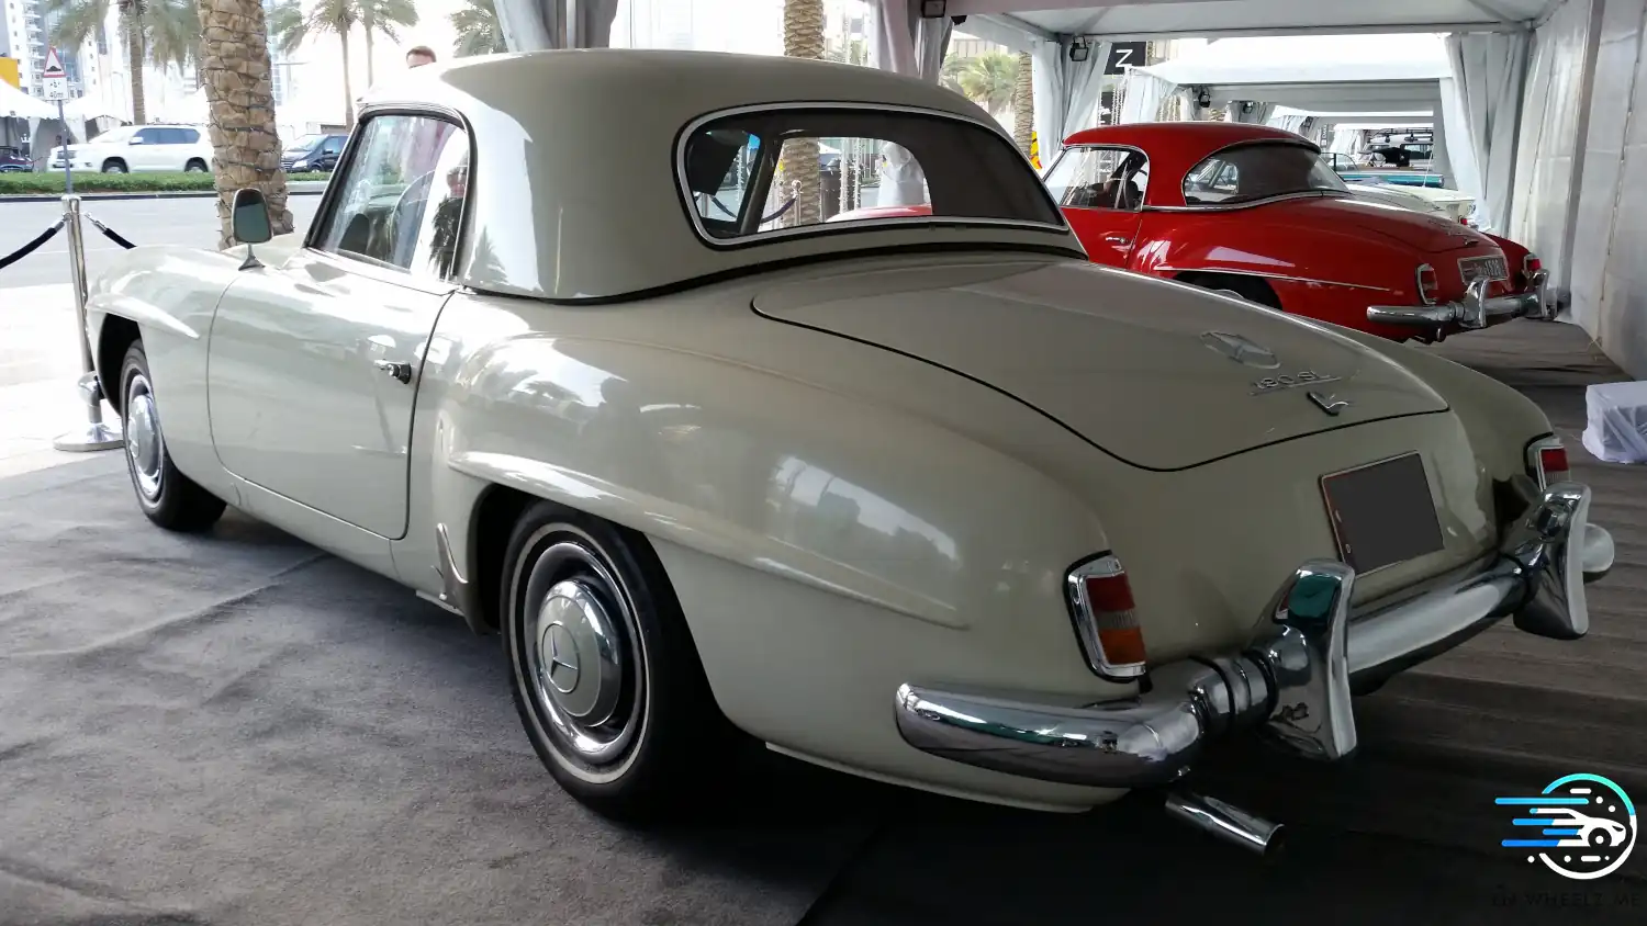
[[[1418,454],[1321,477],[1332,538],[1355,572],[1441,549],[1441,521]]]

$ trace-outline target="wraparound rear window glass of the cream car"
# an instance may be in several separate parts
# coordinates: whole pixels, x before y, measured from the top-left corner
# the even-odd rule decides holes
[[[888,222],[1064,230],[1029,161],[998,132],[947,115],[784,107],[688,128],[679,183],[710,243]]]

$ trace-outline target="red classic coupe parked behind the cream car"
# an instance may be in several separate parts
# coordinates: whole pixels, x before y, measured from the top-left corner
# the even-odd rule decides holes
[[[1299,135],[1229,122],[1077,132],[1046,186],[1097,263],[1225,291],[1395,340],[1550,317],[1527,248],[1352,197]],[[833,222],[917,217],[868,207]]]

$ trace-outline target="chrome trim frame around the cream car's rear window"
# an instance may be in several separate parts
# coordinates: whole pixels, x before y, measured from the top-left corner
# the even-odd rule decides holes
[[[710,122],[746,113],[784,112],[784,110],[861,110],[876,113],[898,112],[906,115],[947,118],[952,122],[960,122],[965,125],[983,128],[985,132],[990,132],[1003,143],[1006,143],[1006,146],[1018,155],[1019,161],[1023,161],[1024,169],[1029,173],[1031,178],[1034,178],[1036,186],[1041,189],[1041,196],[1046,197],[1047,206],[1057,215],[1057,224],[1054,225],[1046,222],[1029,222],[1026,219],[965,219],[965,217],[944,217],[944,215],[907,215],[907,217],[888,217],[888,219],[861,219],[853,222],[817,222],[814,225],[774,229],[771,232],[754,232],[751,235],[735,235],[730,238],[718,238],[712,235],[708,229],[703,225],[703,215],[698,215],[697,202],[688,194],[692,184],[687,183],[687,143],[698,133],[700,128],[703,128]],[[1029,161],[1029,156],[1018,150],[1018,145],[1011,140],[1010,135],[1006,135],[1006,130],[1001,128],[1000,123],[991,123],[970,115],[960,115],[940,109],[866,104],[866,102],[848,102],[848,100],[771,102],[771,104],[748,104],[748,105],[718,109],[715,112],[708,112],[693,118],[685,125],[685,128],[682,128],[677,133],[674,173],[675,173],[675,194],[680,197],[682,206],[685,206],[687,209],[687,217],[692,220],[692,230],[697,232],[700,242],[703,242],[712,248],[721,248],[721,250],[759,245],[766,242],[802,238],[809,235],[828,235],[850,229],[878,230],[886,227],[896,229],[899,225],[945,225],[955,229],[987,225],[987,227],[1003,227],[1003,229],[1023,229],[1031,232],[1061,232],[1066,235],[1074,235],[1074,230],[1071,230],[1069,222],[1064,220],[1062,207],[1052,199],[1052,194],[1051,191],[1047,191],[1046,184],[1041,183],[1041,173],[1034,169],[1034,164]]]

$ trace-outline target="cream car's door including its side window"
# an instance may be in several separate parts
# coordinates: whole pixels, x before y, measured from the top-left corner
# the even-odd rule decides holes
[[[242,271],[219,301],[209,414],[229,472],[397,539],[469,143],[433,113],[376,115],[357,133],[305,247]]]

